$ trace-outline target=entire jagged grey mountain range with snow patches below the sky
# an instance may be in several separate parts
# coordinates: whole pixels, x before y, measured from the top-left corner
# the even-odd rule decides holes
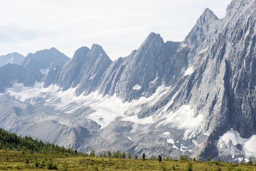
[[[11,132],[85,152],[256,158],[256,0],[233,0],[222,19],[205,9],[184,41],[152,32],[115,61],[93,44],[0,64]]]

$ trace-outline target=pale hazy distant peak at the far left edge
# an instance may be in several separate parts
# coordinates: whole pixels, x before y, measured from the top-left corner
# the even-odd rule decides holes
[[[0,56],[0,67],[6,65],[8,63],[21,65],[24,58],[25,57],[23,55],[20,55],[17,52],[9,53],[7,55],[1,55]]]

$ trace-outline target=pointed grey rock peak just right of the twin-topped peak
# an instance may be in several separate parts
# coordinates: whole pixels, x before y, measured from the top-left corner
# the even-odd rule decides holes
[[[123,101],[151,96],[162,83],[169,84],[170,77],[180,74],[185,61],[174,58],[178,46],[178,42],[164,43],[159,34],[151,33],[138,50],[106,70],[98,90],[103,95],[116,93]],[[168,63],[177,64],[176,73]]]

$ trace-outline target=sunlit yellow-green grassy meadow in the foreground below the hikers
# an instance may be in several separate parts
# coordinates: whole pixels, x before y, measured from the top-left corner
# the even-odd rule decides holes
[[[59,171],[187,171],[187,161],[179,160],[163,160],[159,164],[157,160],[141,159],[115,159],[103,157],[78,157],[78,156],[65,156],[57,154],[23,154],[21,151],[6,151],[0,150],[0,170],[9,171],[45,171],[47,170],[47,160],[52,158],[52,162],[57,165]],[[26,164],[26,160],[29,164]],[[44,168],[35,167],[35,160],[39,163],[44,159]],[[223,163],[216,165],[215,162],[193,162],[192,171],[256,171],[256,165],[251,164],[236,164],[236,163]]]

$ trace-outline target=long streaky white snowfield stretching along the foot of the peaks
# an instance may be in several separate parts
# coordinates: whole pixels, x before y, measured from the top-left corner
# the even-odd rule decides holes
[[[138,85],[136,85],[138,86]],[[38,98],[47,99],[44,106],[52,106],[58,113],[71,114],[81,107],[90,107],[91,113],[86,115],[87,119],[95,121],[101,125],[100,129],[104,129],[111,122],[116,120],[133,122],[134,129],[136,125],[146,125],[157,123],[160,125],[169,125],[172,128],[184,129],[184,139],[188,139],[189,136],[195,135],[198,130],[201,130],[201,124],[204,116],[194,116],[194,111],[189,105],[183,105],[176,112],[168,111],[168,107],[173,103],[177,93],[172,99],[155,115],[148,116],[140,119],[138,113],[143,109],[142,106],[151,106],[155,104],[161,97],[163,97],[170,87],[166,87],[162,84],[157,88],[156,92],[152,96],[145,98],[140,97],[138,100],[123,103],[121,99],[114,96],[102,96],[97,91],[90,93],[88,96],[75,95],[76,87],[70,88],[67,91],[61,91],[56,85],[51,85],[47,88],[43,88],[42,83],[36,83],[33,87],[24,87],[23,84],[15,84],[12,88],[8,88],[7,93],[23,102],[35,105]],[[133,112],[132,116],[127,116],[125,113]],[[38,122],[45,119],[56,120],[56,116],[37,116]],[[67,120],[61,120],[59,123],[63,125],[74,125]],[[133,130],[134,131],[134,130]],[[194,134],[192,132],[195,132]],[[190,137],[191,138],[191,137]]]

